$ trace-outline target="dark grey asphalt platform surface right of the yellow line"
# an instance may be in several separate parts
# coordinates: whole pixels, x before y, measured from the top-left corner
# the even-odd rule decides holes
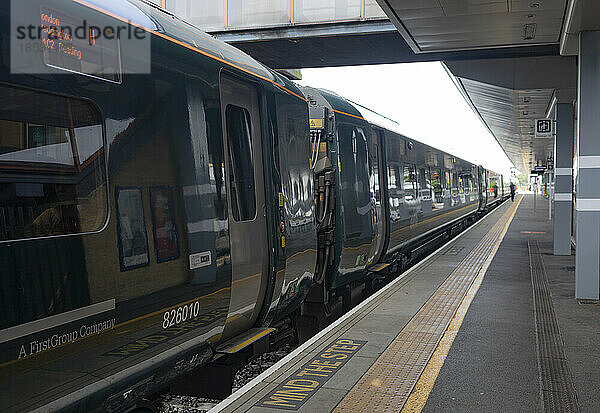
[[[548,201],[525,195],[424,412],[540,411],[527,241],[537,240],[581,412],[600,412],[600,305],[575,297],[575,255],[553,255]],[[574,252],[573,252],[574,253]]]

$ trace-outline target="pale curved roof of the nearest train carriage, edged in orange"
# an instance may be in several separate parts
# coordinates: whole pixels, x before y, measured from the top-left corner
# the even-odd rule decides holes
[[[146,0],[71,0],[82,6],[140,27],[156,37],[170,41],[206,58],[241,70],[251,76],[278,86],[302,100],[283,76],[253,59],[246,53],[206,34],[196,26]]]

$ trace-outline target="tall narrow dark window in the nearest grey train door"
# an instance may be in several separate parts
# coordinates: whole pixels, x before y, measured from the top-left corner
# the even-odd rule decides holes
[[[233,219],[249,221],[256,215],[250,113],[239,106],[228,105],[225,117]]]

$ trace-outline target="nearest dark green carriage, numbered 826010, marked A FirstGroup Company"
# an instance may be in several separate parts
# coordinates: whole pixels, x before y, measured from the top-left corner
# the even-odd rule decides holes
[[[71,40],[74,63],[34,39],[43,70],[12,73],[0,12],[0,410],[119,410],[308,288],[307,107],[148,4],[24,3],[36,27],[143,29],[150,72],[123,41]]]

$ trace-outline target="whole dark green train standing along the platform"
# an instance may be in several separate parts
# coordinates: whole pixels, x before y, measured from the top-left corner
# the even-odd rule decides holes
[[[10,6],[2,411],[133,408],[347,304],[508,196],[504,177],[151,3]]]

